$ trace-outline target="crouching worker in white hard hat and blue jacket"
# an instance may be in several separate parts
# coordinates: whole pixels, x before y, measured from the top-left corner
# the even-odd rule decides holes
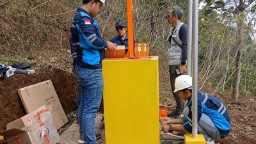
[[[181,75],[175,80],[175,90],[181,99],[187,100],[179,119],[163,118],[162,130],[167,132],[192,132],[192,77]],[[173,125],[180,124],[180,125]],[[203,134],[207,143],[214,143],[230,133],[228,110],[220,99],[198,92],[198,134]]]

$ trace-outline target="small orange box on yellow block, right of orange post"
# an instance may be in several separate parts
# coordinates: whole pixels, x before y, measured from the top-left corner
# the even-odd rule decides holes
[[[149,56],[149,44],[148,43],[135,43],[135,56],[148,57]]]

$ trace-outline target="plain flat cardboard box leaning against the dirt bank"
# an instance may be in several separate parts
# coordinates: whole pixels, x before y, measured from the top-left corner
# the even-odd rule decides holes
[[[18,93],[27,113],[31,113],[43,105],[47,108],[52,106],[51,113],[56,129],[60,129],[68,122],[51,80],[20,88]]]

